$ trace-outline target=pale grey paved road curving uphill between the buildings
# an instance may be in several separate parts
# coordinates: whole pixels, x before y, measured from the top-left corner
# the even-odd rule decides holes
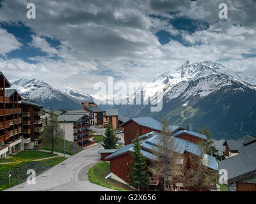
[[[86,172],[99,161],[99,149],[102,149],[102,146],[96,144],[69,157],[38,175],[35,185],[25,182],[6,191],[113,191],[87,180]]]

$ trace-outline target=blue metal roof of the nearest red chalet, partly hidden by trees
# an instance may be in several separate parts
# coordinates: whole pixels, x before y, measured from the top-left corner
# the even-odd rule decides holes
[[[140,138],[146,138],[142,140],[142,146],[144,149],[147,150],[141,150],[141,153],[143,156],[147,157],[148,159],[154,160],[156,156],[150,152],[150,150],[153,150],[154,147],[157,146],[157,143],[159,141],[159,134],[156,131],[152,131],[150,133],[147,133],[145,135],[141,135]],[[202,147],[196,143],[189,142],[188,140],[184,140],[182,138],[175,138],[173,137],[174,140],[174,147],[176,152],[179,152],[180,154],[184,154],[184,152],[189,152],[191,154],[195,154],[197,156],[200,156],[202,154]],[[118,149],[116,152],[113,154],[109,155],[106,157],[106,159],[110,159],[111,157],[118,156],[120,154],[124,154],[125,152],[132,151],[132,143],[129,145],[125,145],[124,147],[121,147]],[[212,168],[214,170],[218,170],[217,163],[216,163],[216,158],[212,157],[208,154],[204,154],[204,159],[203,163],[205,166],[208,166],[209,168]]]

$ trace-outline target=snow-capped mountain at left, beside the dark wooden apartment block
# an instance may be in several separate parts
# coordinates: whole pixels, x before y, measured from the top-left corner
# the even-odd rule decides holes
[[[55,110],[60,108],[81,109],[80,101],[51,87],[42,80],[22,78],[13,82],[11,88],[17,89],[22,98],[32,99],[44,105],[44,108],[54,108]]]

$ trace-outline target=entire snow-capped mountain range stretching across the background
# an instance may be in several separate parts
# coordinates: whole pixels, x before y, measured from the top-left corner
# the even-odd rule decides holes
[[[17,80],[12,88],[19,90],[23,98],[33,99],[45,108],[81,109],[81,101],[105,99],[70,87],[54,88],[35,79]],[[165,118],[169,124],[182,127],[193,124],[194,131],[206,124],[216,139],[256,133],[256,77],[232,71],[217,62],[186,61],[175,71],[141,84],[136,94],[142,100],[150,98],[156,103],[156,96],[162,92],[161,112],[150,112],[151,105],[113,105],[111,108],[118,108],[119,114],[127,117]],[[135,93],[128,100],[134,98]]]

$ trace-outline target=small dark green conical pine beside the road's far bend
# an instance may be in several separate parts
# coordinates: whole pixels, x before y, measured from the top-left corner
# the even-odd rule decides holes
[[[117,149],[118,138],[115,135],[115,130],[111,122],[108,122],[108,126],[105,131],[105,136],[102,138],[102,146],[104,149]]]

